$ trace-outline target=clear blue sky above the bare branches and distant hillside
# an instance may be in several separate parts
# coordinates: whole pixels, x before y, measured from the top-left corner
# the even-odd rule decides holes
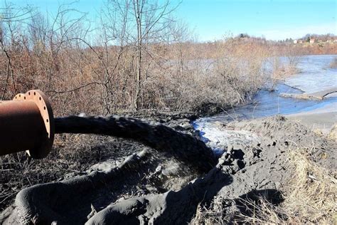
[[[2,0],[1,0],[2,1]],[[10,0],[7,0],[8,2]],[[177,4],[179,0],[172,0]],[[248,33],[279,40],[306,33],[337,34],[337,0],[183,0],[175,14],[185,21],[200,41],[213,41],[232,33]],[[12,0],[53,12],[63,0]],[[74,8],[97,16],[102,0],[79,0]]]

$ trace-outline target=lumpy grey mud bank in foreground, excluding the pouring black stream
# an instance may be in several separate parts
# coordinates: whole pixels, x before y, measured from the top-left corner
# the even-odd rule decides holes
[[[178,127],[184,133],[191,129],[186,123]],[[224,145],[227,153],[205,173],[165,151],[141,145],[142,149],[134,149],[129,157],[124,154],[101,160],[80,177],[73,174],[60,182],[23,189],[0,221],[181,224],[196,221],[200,208],[212,209],[222,221],[235,221],[240,214],[249,216],[242,199],[263,195],[275,206],[282,204],[286,184],[294,178],[290,152],[308,150],[309,157],[321,167],[336,170],[336,142],[316,135],[299,122],[270,117],[219,127],[251,132],[257,140],[238,138]]]

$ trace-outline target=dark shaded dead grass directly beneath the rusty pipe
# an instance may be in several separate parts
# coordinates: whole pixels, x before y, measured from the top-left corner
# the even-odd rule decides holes
[[[0,157],[0,211],[14,202],[25,187],[80,176],[97,162],[119,159],[136,152],[137,145],[113,137],[58,135],[44,159],[30,159],[25,152]]]

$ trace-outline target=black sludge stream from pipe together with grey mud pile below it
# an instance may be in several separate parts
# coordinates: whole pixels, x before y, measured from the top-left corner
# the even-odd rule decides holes
[[[233,221],[245,211],[242,198],[262,194],[282,202],[279,189],[291,178],[287,151],[295,144],[311,147],[322,164],[334,162],[320,157],[331,155],[321,137],[284,117],[223,125],[254,132],[260,142],[237,140],[218,159],[200,140],[160,124],[127,117],[65,117],[55,123],[61,120],[59,132],[118,135],[149,147],[117,166],[23,189],[1,214],[2,224],[186,224],[198,206],[219,197],[225,209],[220,216]],[[151,174],[144,177],[146,171]]]

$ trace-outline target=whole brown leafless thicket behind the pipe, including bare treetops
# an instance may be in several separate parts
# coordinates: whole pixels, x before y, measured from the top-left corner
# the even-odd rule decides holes
[[[196,43],[186,25],[169,18],[169,1],[164,7],[141,3],[149,9],[144,18],[154,21],[138,21],[144,36],[135,36],[131,25],[142,13],[137,2],[109,1],[96,24],[99,41],[88,41],[85,14],[71,4],[61,5],[53,18],[30,12],[16,29],[1,23],[2,99],[38,88],[50,96],[55,115],[196,110],[244,103],[265,83],[262,62],[269,53],[263,41]],[[165,26],[157,29],[163,16]]]

